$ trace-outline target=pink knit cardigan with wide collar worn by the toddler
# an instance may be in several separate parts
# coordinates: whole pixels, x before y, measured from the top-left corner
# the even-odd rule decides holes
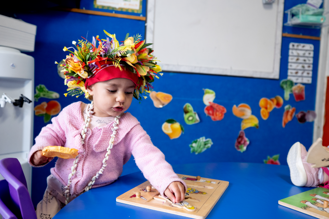
[[[93,119],[93,117],[91,117]],[[107,161],[104,173],[99,176],[93,187],[99,187],[114,182],[122,173],[122,167],[131,155],[134,155],[138,168],[144,177],[163,195],[168,185],[174,181],[186,184],[178,178],[170,164],[165,161],[164,154],[155,147],[150,136],[139,125],[137,119],[129,112],[119,119],[119,129],[116,133],[114,146]],[[71,194],[79,194],[102,167],[106,148],[109,145],[113,122],[101,128],[87,128],[85,144],[81,144],[81,130],[84,125],[81,114],[81,102],[65,107],[52,124],[41,129],[36,137],[36,144],[31,148],[28,162],[31,166],[31,156],[45,146],[64,146],[78,149],[80,154],[76,175],[72,177]],[[67,185],[68,176],[74,159],[58,158],[50,172],[63,184]],[[44,165],[40,165],[44,166]],[[38,166],[38,167],[40,167]]]

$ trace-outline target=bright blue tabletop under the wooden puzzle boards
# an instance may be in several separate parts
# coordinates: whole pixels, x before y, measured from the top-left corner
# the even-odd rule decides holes
[[[201,163],[174,165],[179,174],[229,181],[230,185],[207,219],[266,218],[314,219],[278,204],[278,201],[312,188],[290,181],[286,165],[249,163]],[[186,219],[185,217],[116,202],[116,197],[145,182],[141,172],[132,173],[110,185],[94,188],[71,201],[54,219]]]

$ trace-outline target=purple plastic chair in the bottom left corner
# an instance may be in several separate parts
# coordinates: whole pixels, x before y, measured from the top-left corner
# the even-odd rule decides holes
[[[16,158],[0,160],[0,214],[4,219],[37,219],[27,183]]]

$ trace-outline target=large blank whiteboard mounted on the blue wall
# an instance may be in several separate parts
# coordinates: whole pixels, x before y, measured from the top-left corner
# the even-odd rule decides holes
[[[284,0],[148,0],[163,71],[279,78]]]

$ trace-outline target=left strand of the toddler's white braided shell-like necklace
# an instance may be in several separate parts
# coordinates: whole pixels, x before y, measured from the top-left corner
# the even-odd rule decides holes
[[[94,109],[94,101],[92,101],[91,104],[87,106],[87,112],[86,112],[87,113],[87,118],[84,121],[84,126],[83,126],[82,131],[81,131],[81,144],[82,145],[84,144],[84,139],[86,138],[87,128],[89,127],[91,114],[94,113],[93,109]],[[67,186],[64,187],[66,189],[66,191],[65,191],[65,198],[66,198],[65,204],[68,204],[69,201],[70,201],[70,186],[71,186],[71,183],[72,183],[71,178],[72,178],[72,176],[74,176],[76,174],[77,162],[79,161],[79,156],[80,155],[77,155],[76,159],[73,162],[73,166],[71,167],[71,173],[69,174],[69,177],[68,177]]]

